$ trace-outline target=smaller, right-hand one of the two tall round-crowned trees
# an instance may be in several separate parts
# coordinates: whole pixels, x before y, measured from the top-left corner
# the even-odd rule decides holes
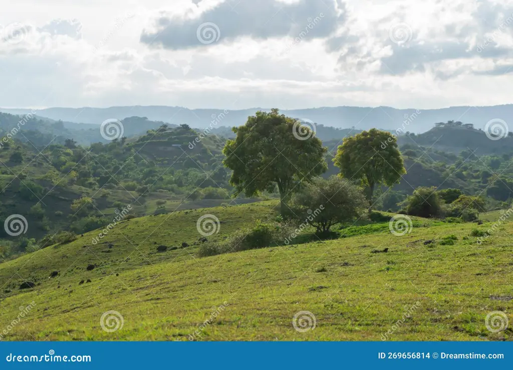
[[[370,129],[346,137],[333,158],[340,176],[360,181],[372,201],[378,184],[391,187],[406,173],[397,147],[397,137],[386,131]]]

